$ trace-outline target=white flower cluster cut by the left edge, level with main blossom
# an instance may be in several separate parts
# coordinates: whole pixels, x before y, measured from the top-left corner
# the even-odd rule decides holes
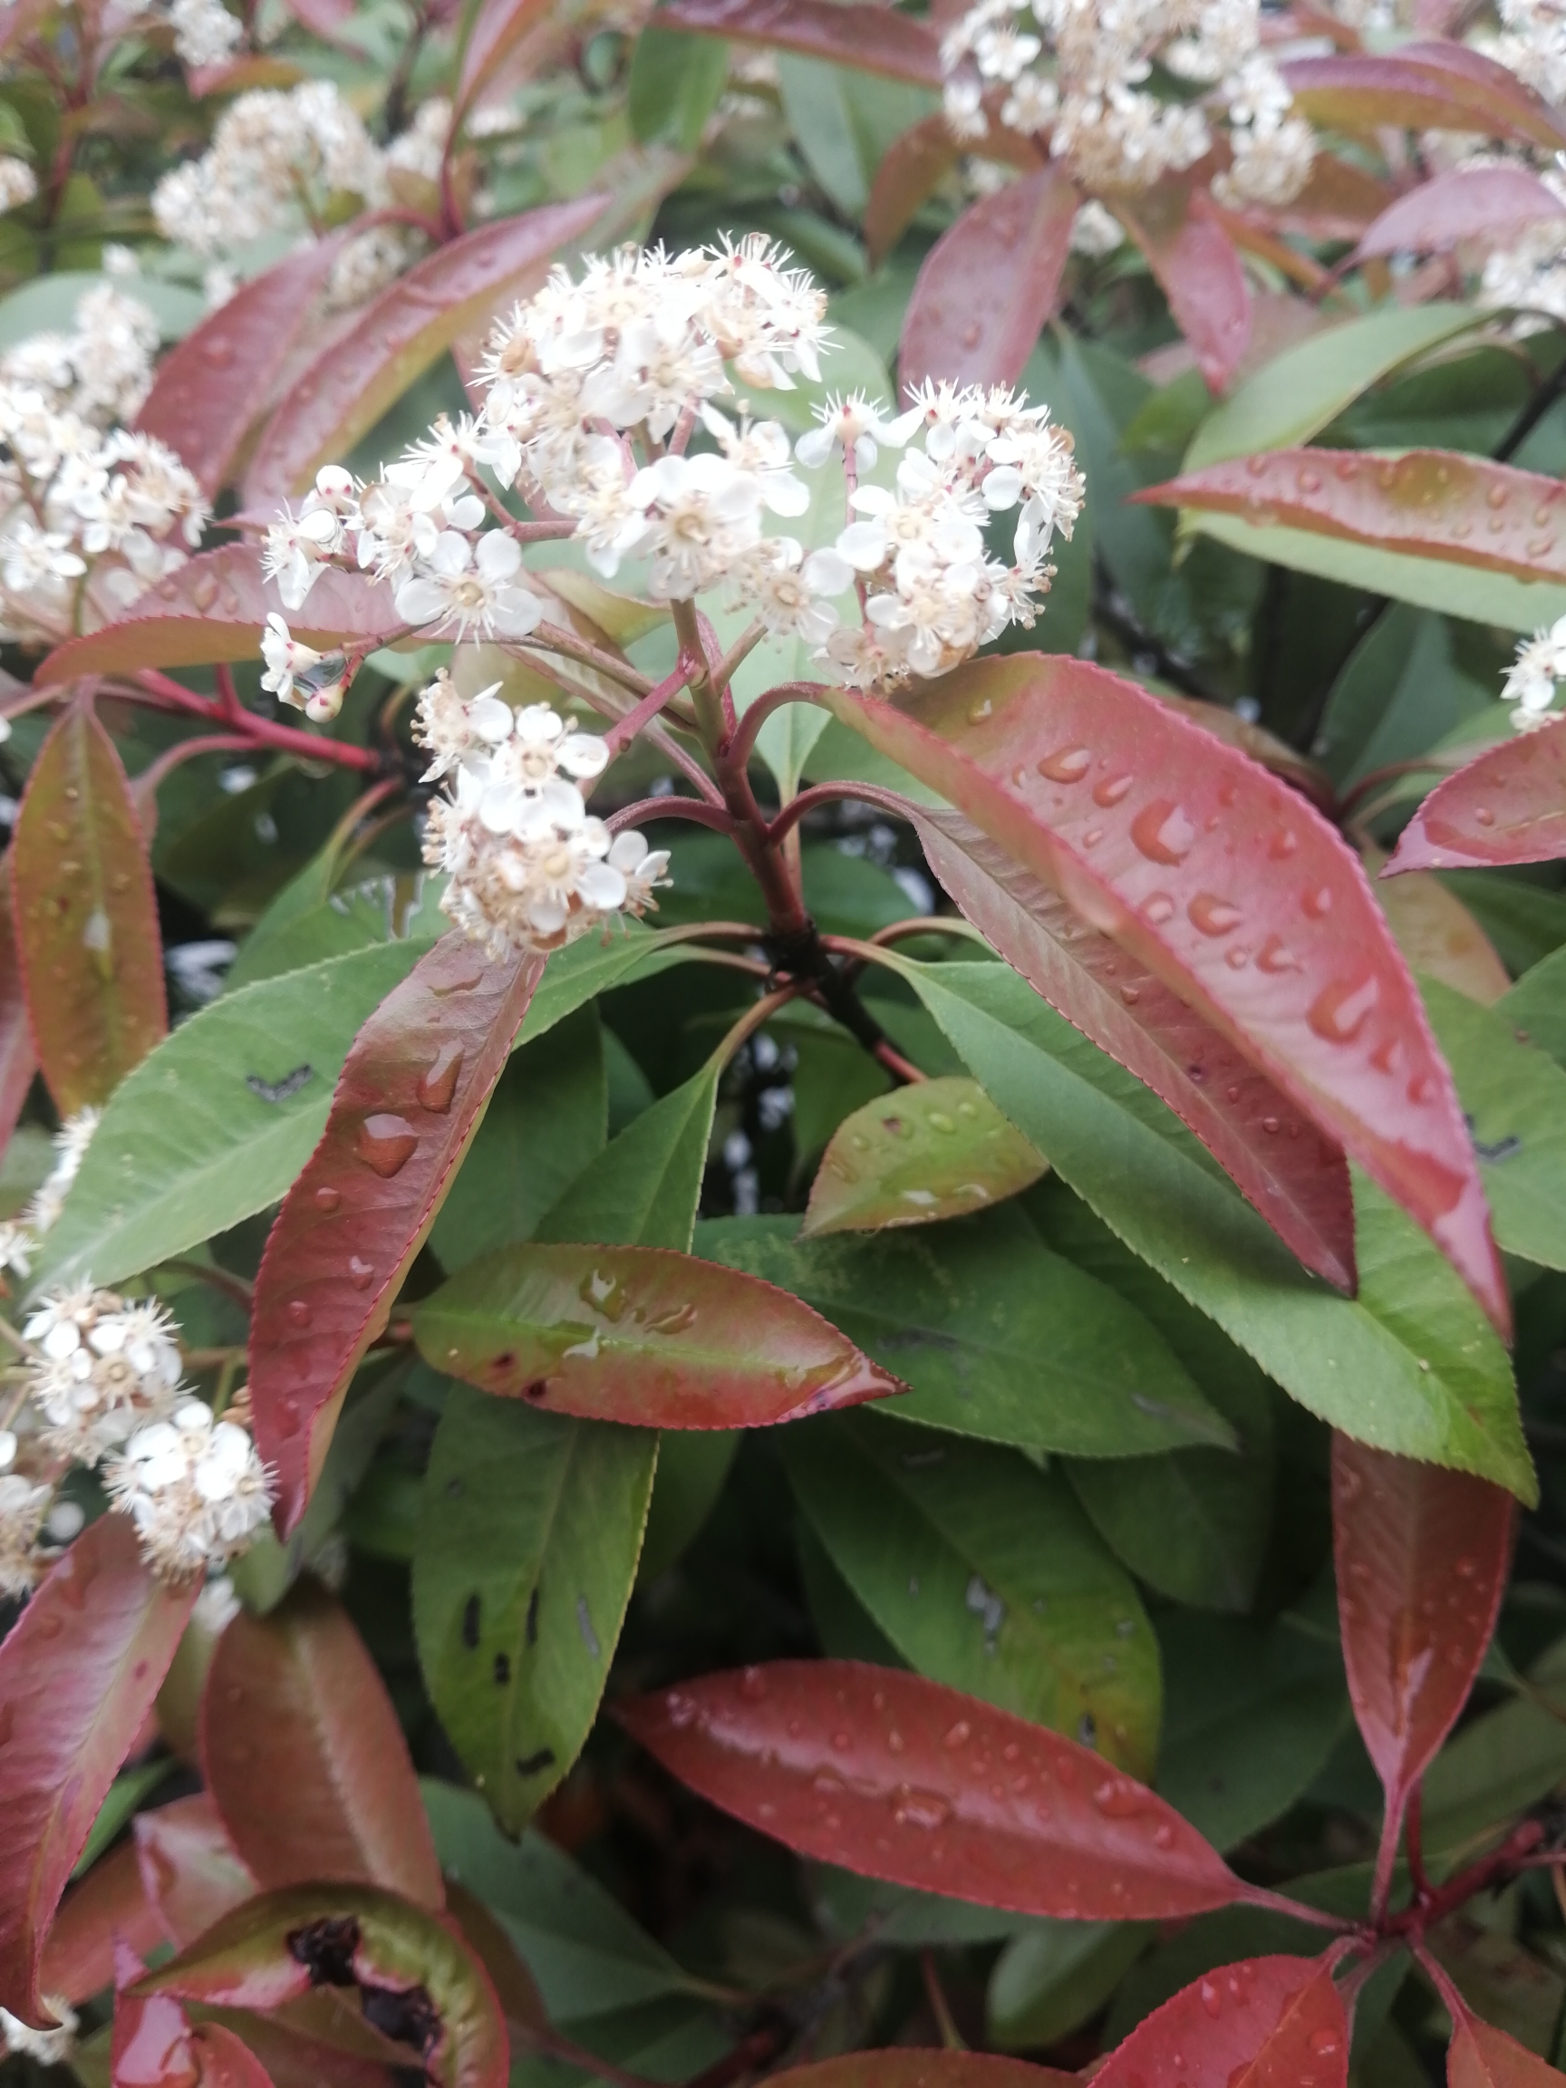
[[[184,566],[207,503],[175,453],[113,426],[146,397],[159,330],[102,284],[75,332],[0,357],[0,637],[54,643]]]

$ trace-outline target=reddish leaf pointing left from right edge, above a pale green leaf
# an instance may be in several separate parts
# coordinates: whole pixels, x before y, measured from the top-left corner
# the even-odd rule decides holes
[[[1382,551],[1414,551],[1520,580],[1566,580],[1566,487],[1453,449],[1366,457],[1353,449],[1274,449],[1232,457],[1132,495],[1153,507],[1196,507],[1286,522]]]

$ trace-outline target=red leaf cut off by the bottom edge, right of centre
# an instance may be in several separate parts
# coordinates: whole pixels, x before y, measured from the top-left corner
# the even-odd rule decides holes
[[[1144,2017],[1094,2088],[1345,2088],[1349,2019],[1332,1967],[1267,1956],[1221,1965]]]

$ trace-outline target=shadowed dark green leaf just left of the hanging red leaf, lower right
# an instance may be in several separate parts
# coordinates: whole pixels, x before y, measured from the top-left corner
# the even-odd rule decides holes
[[[1336,1616],[1286,1610],[1253,1624],[1165,1610],[1159,1645],[1159,1794],[1234,1848],[1309,1789],[1349,1727]]]

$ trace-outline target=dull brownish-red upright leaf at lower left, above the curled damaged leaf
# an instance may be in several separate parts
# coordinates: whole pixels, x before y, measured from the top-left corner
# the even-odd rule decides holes
[[[313,1583],[217,1641],[200,1712],[207,1787],[261,1885],[386,1885],[443,1906],[441,1862],[386,1685]]]

